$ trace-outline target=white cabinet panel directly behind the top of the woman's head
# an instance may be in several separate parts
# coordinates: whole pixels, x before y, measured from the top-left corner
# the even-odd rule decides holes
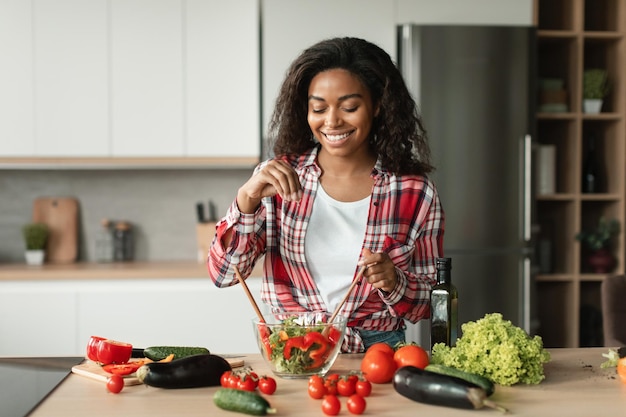
[[[354,36],[396,55],[394,2],[387,0],[264,0],[262,9],[263,131],[291,62],[326,38]]]

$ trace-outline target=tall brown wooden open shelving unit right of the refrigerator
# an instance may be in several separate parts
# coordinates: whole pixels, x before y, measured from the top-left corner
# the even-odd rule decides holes
[[[552,267],[537,277],[539,334],[546,347],[602,346],[600,284],[576,233],[616,218],[622,232],[613,245],[623,274],[626,194],[626,0],[535,0],[540,78],[558,78],[567,110],[537,114],[537,142],[556,145],[556,192],[537,196],[541,238],[551,242]],[[611,92],[602,113],[582,111],[582,75],[608,70]],[[582,192],[582,165],[590,137],[605,171],[600,193]]]

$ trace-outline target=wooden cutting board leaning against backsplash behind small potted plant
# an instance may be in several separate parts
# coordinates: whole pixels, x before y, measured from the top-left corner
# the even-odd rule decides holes
[[[78,255],[78,200],[40,197],[33,203],[33,221],[50,228],[46,262],[72,263]]]

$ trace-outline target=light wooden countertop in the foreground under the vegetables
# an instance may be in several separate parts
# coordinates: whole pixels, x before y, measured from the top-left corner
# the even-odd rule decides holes
[[[552,360],[545,365],[546,379],[538,385],[498,386],[491,397],[507,407],[515,416],[589,417],[624,415],[626,384],[620,382],[615,369],[601,369],[606,348],[550,349]],[[340,355],[331,372],[346,373],[358,369],[362,355]],[[246,365],[257,373],[269,373],[258,354],[246,355]],[[142,385],[127,386],[120,394],[106,392],[102,382],[79,375],[69,375],[37,407],[31,417],[112,416],[158,417],[184,415],[235,416],[236,413],[218,409],[212,401],[217,387],[164,390]],[[266,396],[277,416],[323,416],[321,401],[307,394],[307,380],[278,379],[274,395]],[[341,398],[340,415],[350,415],[346,399]],[[495,410],[468,411],[413,402],[397,394],[391,384],[374,385],[367,398],[365,415],[389,417],[407,415],[437,415],[440,417],[469,416],[470,413],[490,413]]]

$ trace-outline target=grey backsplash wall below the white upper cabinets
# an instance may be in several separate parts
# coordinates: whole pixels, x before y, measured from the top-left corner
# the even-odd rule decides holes
[[[195,260],[197,202],[223,216],[252,169],[0,170],[0,263],[24,261],[21,226],[38,197],[79,201],[79,261],[94,260],[102,218],[133,225],[135,259]]]

